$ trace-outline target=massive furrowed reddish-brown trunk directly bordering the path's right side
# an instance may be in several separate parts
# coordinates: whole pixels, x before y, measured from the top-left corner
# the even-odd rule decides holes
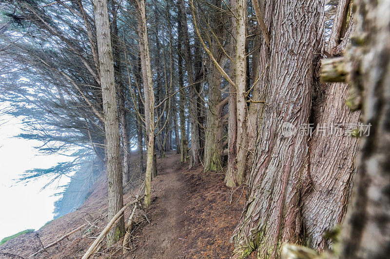
[[[272,12],[273,19],[270,72],[267,85],[262,86],[267,105],[259,125],[248,199],[234,232],[234,258],[245,258],[254,250],[258,258],[276,258],[281,243],[298,242],[300,199],[310,183],[309,137],[299,132],[284,135],[281,126],[309,123],[312,57],[320,49],[324,2],[266,1],[265,10]]]

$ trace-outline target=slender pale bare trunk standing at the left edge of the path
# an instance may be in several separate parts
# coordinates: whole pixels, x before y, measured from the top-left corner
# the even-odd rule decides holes
[[[151,199],[151,181],[153,171],[153,160],[155,154],[155,93],[153,90],[152,69],[150,66],[150,54],[148,43],[148,32],[146,26],[145,2],[136,0],[137,3],[137,29],[139,38],[139,49],[141,52],[141,69],[143,78],[143,92],[145,100],[145,127],[147,138],[147,158],[145,172],[145,199],[144,205],[148,207]]]

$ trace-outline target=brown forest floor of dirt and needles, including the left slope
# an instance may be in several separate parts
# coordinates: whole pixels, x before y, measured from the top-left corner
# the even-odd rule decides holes
[[[245,201],[246,190],[234,190],[223,183],[222,173],[203,173],[201,166],[188,170],[180,156],[167,154],[157,158],[158,175],[152,180],[152,205],[145,215],[138,214],[132,230],[131,250],[122,254],[121,242],[102,247],[94,258],[174,259],[229,258],[229,242]],[[27,258],[55,242],[66,233],[87,224],[81,230],[39,253],[34,258],[79,259],[107,224],[107,182],[102,176],[93,192],[78,208],[34,233],[21,235],[0,246],[0,258],[9,253]],[[124,195],[129,202],[135,195]],[[131,209],[127,209],[125,219]],[[126,220],[125,220],[126,221]]]

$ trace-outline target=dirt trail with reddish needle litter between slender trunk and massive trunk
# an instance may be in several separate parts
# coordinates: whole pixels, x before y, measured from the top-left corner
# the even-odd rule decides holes
[[[188,170],[179,156],[158,159],[159,175],[152,181],[150,223],[141,228],[137,250],[128,258],[229,258],[230,237],[242,211],[245,191],[233,192],[223,173]]]

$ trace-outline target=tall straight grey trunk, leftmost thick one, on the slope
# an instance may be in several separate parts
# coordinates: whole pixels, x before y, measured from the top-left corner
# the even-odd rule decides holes
[[[107,0],[94,0],[96,33],[100,65],[100,82],[103,98],[106,132],[106,161],[108,176],[108,219],[111,220],[123,207],[122,168],[120,163],[120,137],[115,90],[114,59],[110,38]],[[124,235],[123,217],[107,236],[107,246]]]

